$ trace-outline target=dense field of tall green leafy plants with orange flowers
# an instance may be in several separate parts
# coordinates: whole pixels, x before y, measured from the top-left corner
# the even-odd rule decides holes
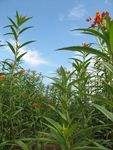
[[[22,48],[35,41],[20,42],[30,17],[16,12],[8,18],[13,59],[0,67],[1,150],[112,150],[113,149],[113,20],[108,12],[87,18],[88,28],[74,29],[93,36],[95,43],[58,51],[76,51],[72,70],[61,66],[52,82],[22,68]],[[77,53],[78,52],[78,53]],[[79,56],[79,57],[77,57]]]

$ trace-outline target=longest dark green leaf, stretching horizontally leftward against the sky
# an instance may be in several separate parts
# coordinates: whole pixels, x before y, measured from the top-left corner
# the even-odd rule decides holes
[[[100,52],[97,49],[91,47],[83,47],[83,46],[71,46],[71,47],[64,47],[58,50],[67,50],[67,51],[78,51],[78,52],[87,52],[89,54],[95,54],[103,59],[109,60],[110,58],[103,52]]]

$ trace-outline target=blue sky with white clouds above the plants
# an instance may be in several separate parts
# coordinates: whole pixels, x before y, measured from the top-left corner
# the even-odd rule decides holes
[[[66,46],[81,45],[93,40],[72,29],[88,27],[87,17],[94,17],[96,11],[109,11],[113,17],[113,0],[0,0],[0,40],[13,41],[4,36],[9,24],[8,18],[14,18],[16,10],[33,18],[26,26],[33,26],[21,37],[21,41],[36,40],[22,49],[27,51],[22,66],[25,69],[42,72],[51,76],[62,66],[71,67],[70,57],[75,53],[56,51]],[[0,60],[12,58],[7,48],[0,48]]]

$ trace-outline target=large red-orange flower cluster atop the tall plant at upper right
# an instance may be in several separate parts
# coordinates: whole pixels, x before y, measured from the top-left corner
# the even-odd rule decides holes
[[[91,20],[93,20],[91,27],[95,27],[96,25],[100,25],[103,29],[106,29],[105,28],[105,20],[107,17],[110,19],[109,12],[104,11],[104,12],[100,13],[99,11],[97,11],[96,15],[93,19],[88,17],[88,18],[86,18],[86,21],[90,22]]]

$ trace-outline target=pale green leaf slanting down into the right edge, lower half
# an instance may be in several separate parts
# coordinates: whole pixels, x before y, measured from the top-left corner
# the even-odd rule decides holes
[[[96,107],[98,110],[100,110],[108,119],[110,119],[111,121],[113,121],[113,113],[111,113],[110,111],[108,111],[103,106],[99,106],[97,104],[93,104],[93,106]]]

